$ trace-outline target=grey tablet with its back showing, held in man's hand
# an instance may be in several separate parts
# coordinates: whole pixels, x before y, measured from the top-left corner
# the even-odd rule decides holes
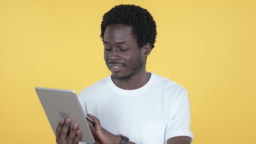
[[[69,117],[72,120],[70,130],[75,122],[78,123],[81,131],[81,141],[95,143],[85,112],[75,91],[39,87],[36,87],[35,90],[55,136],[61,118]]]

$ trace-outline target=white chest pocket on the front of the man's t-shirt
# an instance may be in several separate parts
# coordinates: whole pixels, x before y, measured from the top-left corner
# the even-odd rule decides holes
[[[144,123],[142,126],[143,144],[165,144],[165,123]]]

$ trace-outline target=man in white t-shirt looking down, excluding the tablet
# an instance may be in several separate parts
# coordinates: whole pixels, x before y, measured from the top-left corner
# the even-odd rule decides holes
[[[118,5],[104,14],[101,38],[112,75],[79,95],[96,144],[190,144],[187,91],[171,80],[146,71],[154,48],[156,25],[151,14],[135,5]],[[77,144],[81,133],[70,119],[56,129],[58,144]],[[118,135],[122,134],[122,135]],[[129,139],[129,140],[128,140]],[[133,142],[132,142],[133,141]]]

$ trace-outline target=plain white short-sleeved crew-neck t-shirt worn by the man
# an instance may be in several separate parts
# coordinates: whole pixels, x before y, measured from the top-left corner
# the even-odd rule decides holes
[[[108,76],[78,96],[84,111],[101,126],[123,134],[136,144],[166,144],[175,136],[189,136],[188,93],[168,78],[151,73],[146,85],[135,90],[118,88]]]

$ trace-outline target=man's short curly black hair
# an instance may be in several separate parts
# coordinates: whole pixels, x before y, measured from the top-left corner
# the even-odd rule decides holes
[[[154,48],[157,35],[156,24],[146,9],[136,5],[116,5],[103,16],[100,35],[102,40],[106,27],[112,24],[131,26],[139,48],[146,43],[150,43]]]

